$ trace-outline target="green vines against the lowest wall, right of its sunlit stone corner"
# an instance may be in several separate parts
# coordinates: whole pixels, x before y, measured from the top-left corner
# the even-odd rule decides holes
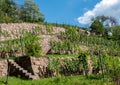
[[[58,75],[82,74],[83,66],[77,58],[50,58],[48,69]]]

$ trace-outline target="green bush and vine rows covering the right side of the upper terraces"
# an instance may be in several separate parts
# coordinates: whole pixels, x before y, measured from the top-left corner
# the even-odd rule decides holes
[[[120,56],[119,41],[108,40],[95,35],[79,34],[77,30],[77,28],[66,26],[66,31],[59,35],[61,41],[50,43],[52,53],[68,54],[69,52],[75,54],[80,50],[80,45],[85,45],[90,54],[96,54],[98,50],[101,50],[112,56]]]

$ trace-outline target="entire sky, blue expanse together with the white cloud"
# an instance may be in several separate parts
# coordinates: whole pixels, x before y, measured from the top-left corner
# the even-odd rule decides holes
[[[23,0],[16,0],[22,3]],[[88,25],[90,17],[99,14],[111,14],[109,10],[119,0],[33,0],[45,15],[45,21],[53,23],[66,23],[71,25]],[[113,5],[111,5],[114,3]],[[97,6],[98,5],[98,6]],[[106,10],[103,9],[107,6]],[[120,8],[120,7],[119,7]],[[109,10],[107,10],[109,9]],[[103,11],[101,11],[103,10]],[[105,12],[106,11],[106,12]]]

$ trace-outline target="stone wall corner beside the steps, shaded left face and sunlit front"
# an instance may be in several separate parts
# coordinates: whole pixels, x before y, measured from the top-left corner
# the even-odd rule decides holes
[[[16,62],[28,72],[39,77],[45,77],[48,66],[48,58],[24,57],[19,58]]]

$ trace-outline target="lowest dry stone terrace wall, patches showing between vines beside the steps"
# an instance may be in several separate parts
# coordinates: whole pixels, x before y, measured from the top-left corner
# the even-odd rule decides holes
[[[53,58],[54,60],[55,58]],[[78,58],[67,58],[68,60],[70,61],[74,61]],[[27,70],[29,73],[31,73],[32,75],[36,75],[40,78],[42,77],[52,77],[52,76],[56,76],[57,73],[56,73],[56,70],[55,69],[51,69],[49,68],[49,65],[50,65],[50,61],[51,59],[50,58],[47,58],[47,57],[41,57],[41,58],[35,58],[35,57],[22,57],[22,58],[19,58],[18,60],[16,60],[15,62],[22,68],[24,68],[25,70]],[[54,61],[52,61],[54,62]],[[73,62],[74,63],[74,62]],[[79,69],[79,70],[76,70],[75,72],[70,72],[70,70],[68,70],[68,68],[66,69],[66,63],[64,61],[64,58],[61,58],[60,59],[60,67],[61,67],[61,71],[60,71],[60,74],[62,75],[78,75],[78,74],[83,74],[83,70]],[[89,71],[88,73],[89,74],[92,74],[93,73],[93,66],[92,66],[92,60],[88,59],[88,68],[89,68]],[[64,68],[63,68],[64,67]],[[7,74],[7,68],[8,68],[8,63],[7,63],[7,60],[2,60],[0,61],[0,77],[3,77]],[[13,73],[14,75],[17,75],[17,71],[15,71],[16,69],[15,68],[11,68],[11,72],[10,73]],[[15,73],[14,73],[15,72]]]

